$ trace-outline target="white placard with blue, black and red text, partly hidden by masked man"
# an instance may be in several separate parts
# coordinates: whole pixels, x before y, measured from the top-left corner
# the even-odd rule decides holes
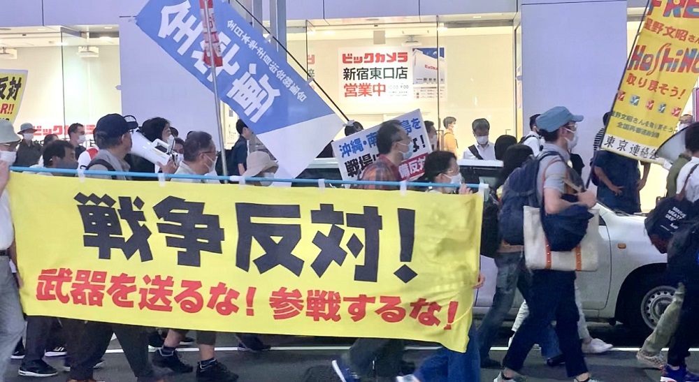
[[[425,159],[432,152],[425,122],[420,110],[413,110],[396,120],[401,122],[412,140],[412,156],[398,166],[401,180],[416,179],[424,173]],[[376,146],[376,134],[380,127],[381,125],[374,126],[333,142],[333,152],[338,159],[343,179],[359,179],[364,168],[377,160],[379,149]]]

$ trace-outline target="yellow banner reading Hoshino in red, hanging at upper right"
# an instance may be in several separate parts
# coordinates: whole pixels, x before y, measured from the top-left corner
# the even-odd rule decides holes
[[[658,163],[699,75],[699,1],[651,0],[602,148]]]

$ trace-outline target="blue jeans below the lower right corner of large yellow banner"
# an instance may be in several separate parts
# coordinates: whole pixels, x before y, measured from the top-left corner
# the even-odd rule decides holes
[[[475,326],[468,330],[466,353],[439,348],[422,362],[415,376],[421,382],[480,382],[480,355]]]

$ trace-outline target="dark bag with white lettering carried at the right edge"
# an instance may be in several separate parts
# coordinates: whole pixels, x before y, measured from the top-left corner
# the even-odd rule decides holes
[[[692,219],[693,216],[698,214],[699,203],[692,203],[684,198],[689,178],[691,178],[697,167],[699,165],[694,166],[689,171],[682,191],[679,191],[675,196],[661,199],[656,207],[646,216],[644,221],[646,234],[661,254],[668,253],[668,244],[679,228],[679,223],[682,223],[685,219]]]

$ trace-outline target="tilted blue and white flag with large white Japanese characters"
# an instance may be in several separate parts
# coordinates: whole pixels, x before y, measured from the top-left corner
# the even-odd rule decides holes
[[[212,31],[202,23],[209,10]],[[335,112],[294,68],[287,54],[223,1],[150,0],[138,27],[199,82],[213,89],[279,161],[280,177],[296,177],[343,127]],[[215,56],[208,59],[208,43]],[[220,52],[219,52],[220,51]],[[220,56],[220,57],[219,57]]]

